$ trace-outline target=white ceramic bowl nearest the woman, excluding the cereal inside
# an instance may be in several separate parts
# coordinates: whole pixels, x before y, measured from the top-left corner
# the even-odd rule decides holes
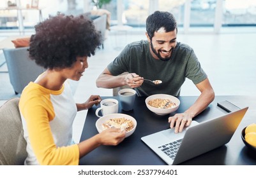
[[[102,116],[101,118],[99,118],[96,121],[96,128],[97,128],[98,132],[100,133],[100,132],[103,131],[103,128],[102,128],[103,123],[105,123],[107,120],[114,119],[114,118],[125,118],[126,120],[132,120],[133,121],[133,128],[132,128],[132,130],[126,132],[125,137],[129,137],[130,135],[133,134],[133,132],[135,131],[135,129],[137,127],[137,121],[132,116],[129,116],[127,114],[121,114],[121,113],[107,114],[107,115]]]

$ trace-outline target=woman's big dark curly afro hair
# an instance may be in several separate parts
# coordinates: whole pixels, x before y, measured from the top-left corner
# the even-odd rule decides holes
[[[91,20],[63,13],[49,16],[35,26],[29,57],[45,69],[71,67],[77,57],[90,57],[102,43]]]

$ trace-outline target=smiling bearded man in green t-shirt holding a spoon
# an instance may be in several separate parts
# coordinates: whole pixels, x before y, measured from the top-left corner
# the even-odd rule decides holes
[[[215,93],[206,73],[190,46],[177,43],[177,24],[169,12],[155,11],[146,20],[147,41],[128,44],[96,80],[102,88],[129,85],[137,95],[148,96],[165,93],[178,96],[186,78],[199,89],[200,96],[184,113],[169,117],[170,128],[182,132],[192,118],[206,109],[215,98]],[[129,72],[125,75],[119,75]],[[154,85],[145,79],[162,80]]]

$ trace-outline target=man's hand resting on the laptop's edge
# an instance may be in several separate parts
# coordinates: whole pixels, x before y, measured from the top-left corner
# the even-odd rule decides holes
[[[192,122],[192,117],[188,113],[175,114],[169,117],[168,122],[170,123],[170,128],[174,128],[174,132],[182,132],[184,127],[188,127]]]

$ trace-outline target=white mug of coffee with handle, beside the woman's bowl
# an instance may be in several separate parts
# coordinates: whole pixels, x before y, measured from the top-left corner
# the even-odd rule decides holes
[[[102,116],[107,114],[118,113],[118,100],[116,99],[104,99],[100,102],[100,107],[96,109],[95,114],[99,118],[99,112],[102,111]]]

